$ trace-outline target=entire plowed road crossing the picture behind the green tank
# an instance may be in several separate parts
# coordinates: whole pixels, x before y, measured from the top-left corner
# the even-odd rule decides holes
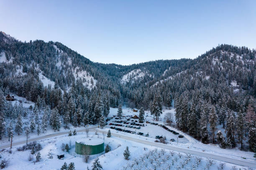
[[[77,132],[85,132],[86,129],[90,129],[90,130],[93,129],[94,130],[95,128],[97,128],[97,126],[77,130]],[[107,133],[107,131],[100,130],[100,129],[97,129],[97,132]],[[41,136],[41,137],[38,137],[38,138],[28,139],[28,142],[47,139],[47,138],[51,138],[51,137],[55,137],[55,136],[59,136],[59,135],[65,135],[65,134],[68,134],[68,133],[69,132],[66,131],[66,132],[49,134],[49,135]],[[148,141],[148,140],[133,138],[133,137],[129,137],[129,136],[121,135],[121,134],[118,134],[118,133],[113,133],[113,132],[111,133],[111,135],[115,136],[115,137],[118,137],[118,138],[121,138],[121,139],[124,139],[124,140],[129,140],[129,141],[132,141],[132,142],[136,142],[136,143],[151,145],[151,146],[154,146],[154,147],[163,148],[163,149],[167,149],[167,150],[174,150],[174,151],[182,152],[182,153],[191,153],[191,154],[194,154],[194,155],[198,155],[198,156],[205,157],[205,158],[209,157],[209,158],[212,158],[214,160],[219,160],[219,161],[226,162],[226,163],[232,163],[232,164],[235,164],[235,165],[256,168],[256,161],[255,162],[249,162],[249,161],[246,161],[246,160],[240,160],[240,159],[236,159],[236,158],[228,158],[226,156],[214,155],[212,153],[205,153],[205,152],[190,150],[190,149],[186,149],[186,148],[179,148],[179,147],[175,147],[175,146],[171,146],[171,145],[165,145],[165,144],[162,144],[162,143],[155,143],[155,142],[151,142],[151,141]],[[13,143],[13,146],[21,145],[21,144],[25,144],[25,143],[26,143],[26,140],[20,141],[20,142],[17,142],[17,143]],[[9,148],[9,147],[10,147],[10,144],[1,145],[0,149]]]

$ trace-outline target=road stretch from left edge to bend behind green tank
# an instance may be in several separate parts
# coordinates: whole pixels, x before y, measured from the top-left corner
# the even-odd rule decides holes
[[[97,128],[97,126],[80,129],[80,130],[77,130],[77,132],[85,132],[86,129],[94,129],[94,128]],[[45,135],[45,136],[40,136],[40,137],[37,137],[37,138],[31,138],[31,139],[28,139],[28,143],[36,141],[36,140],[51,138],[51,137],[54,137],[54,136],[65,135],[65,134],[68,134],[68,133],[69,133],[69,131],[65,131],[65,132],[59,132],[59,133],[53,133],[53,134],[49,134],[49,135]],[[23,141],[20,141],[20,142],[13,143],[13,146],[21,145],[21,144],[25,144],[25,143],[27,143],[27,140],[23,140]],[[10,143],[9,144],[3,144],[3,145],[0,146],[0,149],[4,149],[4,148],[10,148]]]

